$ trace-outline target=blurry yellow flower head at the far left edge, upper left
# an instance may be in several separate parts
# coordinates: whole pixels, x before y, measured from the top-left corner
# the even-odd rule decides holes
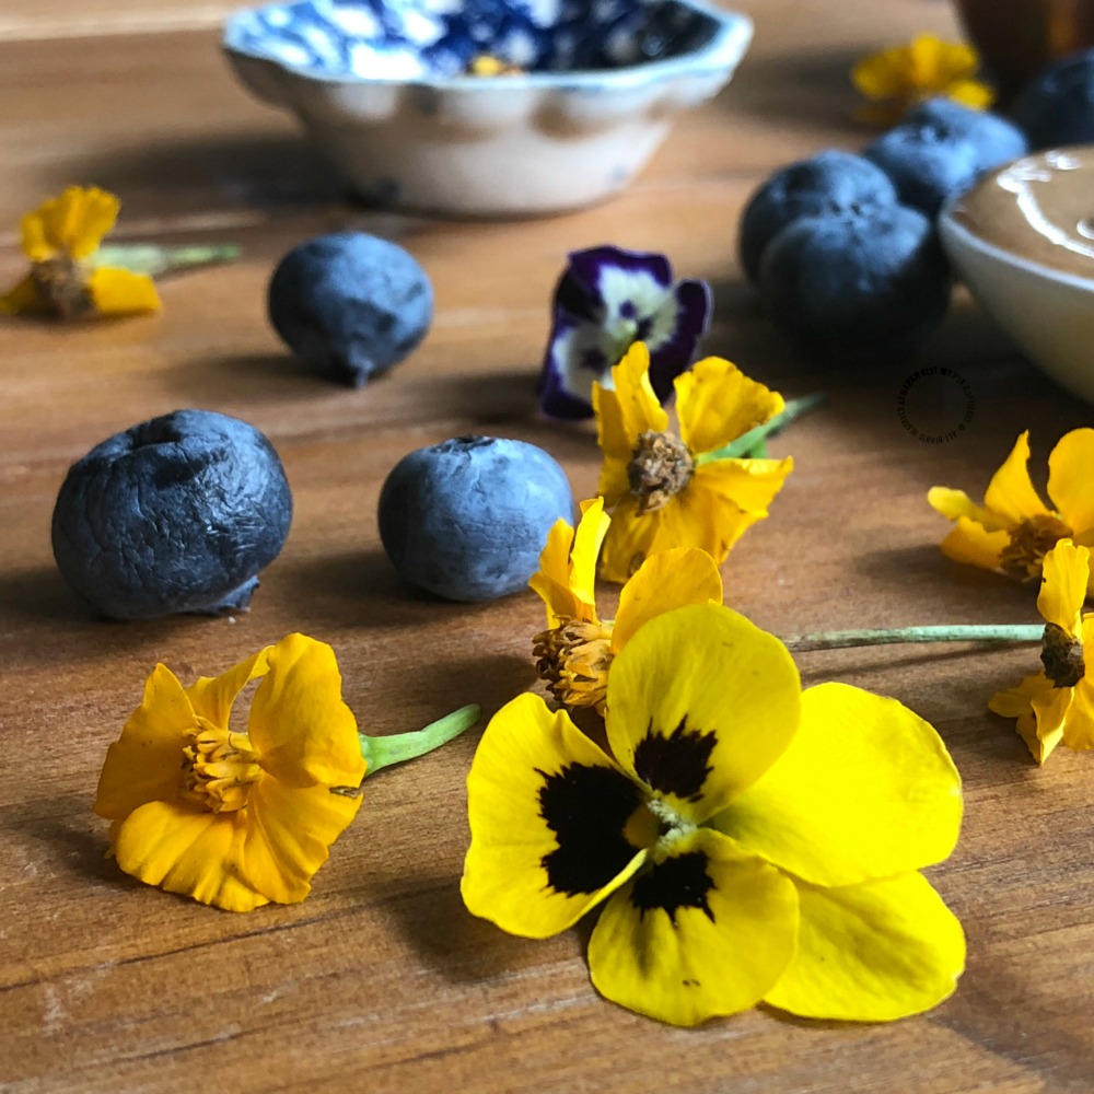
[[[70,186],[28,212],[23,218],[23,253],[31,259],[31,271],[0,294],[0,313],[79,319],[154,312],[160,298],[150,277],[94,264],[119,208],[106,190]]]

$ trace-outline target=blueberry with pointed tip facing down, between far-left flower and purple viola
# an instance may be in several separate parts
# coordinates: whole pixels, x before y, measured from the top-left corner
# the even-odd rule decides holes
[[[400,246],[334,232],[293,247],[270,279],[269,316],[295,353],[351,387],[398,364],[433,318],[433,288]]]

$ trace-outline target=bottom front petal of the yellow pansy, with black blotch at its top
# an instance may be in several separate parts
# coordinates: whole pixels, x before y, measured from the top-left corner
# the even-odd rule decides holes
[[[793,883],[700,829],[612,897],[589,968],[613,1002],[693,1026],[757,1003],[791,961],[796,929]]]

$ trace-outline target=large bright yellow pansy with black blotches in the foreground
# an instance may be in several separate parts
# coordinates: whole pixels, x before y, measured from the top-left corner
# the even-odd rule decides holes
[[[695,1025],[764,1000],[808,1017],[927,1010],[964,965],[919,873],[952,851],[961,783],[938,733],[714,605],[649,620],[608,676],[610,755],[538,696],[503,707],[467,778],[462,893],[547,938],[606,901],[593,984]]]

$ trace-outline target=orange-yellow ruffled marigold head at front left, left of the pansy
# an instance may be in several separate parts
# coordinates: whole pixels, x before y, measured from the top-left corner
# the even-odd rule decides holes
[[[245,732],[232,706],[261,678]],[[304,635],[184,688],[163,665],[110,745],[95,812],[149,885],[229,911],[303,900],[365,773],[334,650]]]

